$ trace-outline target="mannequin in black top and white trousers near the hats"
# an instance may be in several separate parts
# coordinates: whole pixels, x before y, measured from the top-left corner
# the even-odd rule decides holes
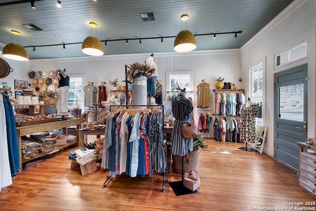
[[[63,71],[57,70],[57,78],[59,80],[58,94],[60,99],[58,100],[58,113],[68,113],[68,95],[69,95],[69,82],[70,78],[67,76],[66,69]]]

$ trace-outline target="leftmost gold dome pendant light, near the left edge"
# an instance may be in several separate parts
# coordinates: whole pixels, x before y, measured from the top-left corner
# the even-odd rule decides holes
[[[28,61],[29,55],[24,49],[24,47],[20,44],[18,44],[18,36],[21,34],[18,31],[11,30],[12,37],[13,35],[16,36],[16,43],[12,42],[11,37],[11,43],[5,45],[2,49],[2,56],[8,59],[18,60],[18,61]]]

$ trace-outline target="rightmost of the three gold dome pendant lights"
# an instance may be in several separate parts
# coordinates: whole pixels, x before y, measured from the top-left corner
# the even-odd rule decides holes
[[[181,16],[182,21],[187,21],[189,15],[184,14]],[[181,24],[182,25],[182,24]],[[188,52],[196,49],[197,41],[192,32],[189,30],[182,30],[174,40],[174,50],[178,52]]]

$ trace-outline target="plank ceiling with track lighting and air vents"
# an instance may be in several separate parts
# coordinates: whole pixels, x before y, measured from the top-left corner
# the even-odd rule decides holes
[[[28,0],[0,0],[0,50],[15,42],[10,31],[17,30],[21,32],[19,43],[30,59],[87,56],[81,52],[81,43],[91,35],[88,22],[98,24],[93,36],[103,44],[108,41],[105,55],[173,52],[174,38],[165,37],[175,37],[186,28],[195,35],[242,31],[237,38],[235,34],[217,35],[217,39],[213,35],[196,36],[195,50],[239,48],[292,1],[61,0],[62,7],[58,8],[57,0],[35,0],[36,8],[32,9]],[[143,21],[143,12],[153,12],[155,20]],[[182,14],[189,14],[187,24],[181,23]],[[42,30],[30,30],[25,24]]]

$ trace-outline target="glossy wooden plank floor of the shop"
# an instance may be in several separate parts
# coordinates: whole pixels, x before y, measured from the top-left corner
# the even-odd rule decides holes
[[[238,149],[243,143],[206,139],[208,148],[199,149],[197,193],[176,196],[169,184],[162,189],[162,175],[134,177],[118,175],[102,188],[108,172],[81,176],[70,169],[68,152],[48,155],[26,163],[9,187],[0,192],[0,210],[27,211],[248,211],[293,207],[284,203],[316,202],[316,196],[299,186],[297,172],[266,154]],[[100,164],[99,164],[100,165]],[[170,181],[181,180],[177,173]],[[316,207],[316,206],[314,206]]]

